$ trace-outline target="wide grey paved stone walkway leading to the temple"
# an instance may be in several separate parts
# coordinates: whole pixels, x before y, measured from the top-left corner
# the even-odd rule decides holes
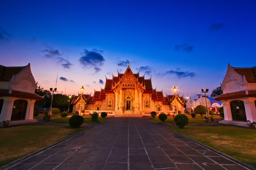
[[[246,170],[146,118],[112,118],[11,170]]]

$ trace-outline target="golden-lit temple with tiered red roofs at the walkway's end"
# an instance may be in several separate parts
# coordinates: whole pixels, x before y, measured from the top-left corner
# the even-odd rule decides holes
[[[152,88],[151,78],[140,77],[140,71],[134,74],[130,66],[124,74],[118,72],[112,79],[106,78],[105,88],[91,94],[79,94],[73,101],[73,112],[89,114],[93,112],[107,112],[115,116],[143,116],[151,111],[175,114],[184,111],[186,105],[183,97],[178,95],[163,95],[163,91]]]

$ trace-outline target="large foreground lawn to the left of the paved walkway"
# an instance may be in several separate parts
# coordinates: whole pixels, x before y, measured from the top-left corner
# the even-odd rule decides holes
[[[86,128],[69,126],[0,128],[0,167]]]

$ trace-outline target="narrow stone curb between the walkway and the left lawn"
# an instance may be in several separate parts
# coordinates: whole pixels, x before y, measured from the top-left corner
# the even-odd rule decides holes
[[[12,161],[11,163],[9,163],[9,164],[3,166],[3,167],[0,167],[0,170],[4,170],[4,169],[6,169],[6,168],[9,168],[9,167],[13,166],[14,164],[17,164],[17,163],[19,163],[19,162],[21,162],[21,161],[23,161],[23,160],[25,160],[25,159],[28,159],[28,158],[30,158],[30,157],[36,155],[37,153],[40,153],[40,152],[42,152],[42,151],[44,151],[44,150],[47,150],[48,148],[50,148],[50,147],[52,147],[52,146],[54,146],[54,145],[56,145],[56,144],[59,144],[59,143],[61,143],[61,142],[64,142],[64,141],[67,140],[67,139],[70,139],[70,138],[72,138],[72,137],[74,137],[74,136],[76,136],[76,135],[78,135],[78,134],[80,134],[80,133],[83,133],[85,130],[88,130],[88,129],[90,129],[90,128],[92,128],[92,127],[88,127],[87,129],[84,129],[84,130],[82,130],[82,131],[80,131],[80,132],[78,132],[78,133],[75,133],[75,134],[73,134],[73,135],[71,135],[71,136],[68,136],[68,137],[66,137],[66,138],[64,138],[64,139],[62,139],[62,140],[60,140],[60,141],[58,141],[58,142],[55,142],[55,143],[50,144],[50,145],[48,145],[48,146],[46,146],[46,147],[43,147],[43,148],[40,149],[40,150],[37,150],[37,151],[35,151],[35,152],[33,152],[33,153],[29,153],[28,155],[23,156],[23,157],[20,158],[20,159],[17,159],[17,160],[15,160],[15,161]]]

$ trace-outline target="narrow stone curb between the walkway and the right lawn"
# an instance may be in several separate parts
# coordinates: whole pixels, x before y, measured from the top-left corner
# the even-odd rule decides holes
[[[215,152],[215,153],[218,153],[219,155],[224,156],[224,157],[226,157],[226,158],[228,158],[228,159],[230,159],[230,160],[232,160],[232,161],[234,161],[234,162],[236,162],[236,163],[238,163],[238,164],[240,164],[240,165],[242,165],[242,166],[244,166],[244,167],[247,167],[247,168],[250,169],[250,170],[256,170],[255,168],[251,167],[250,165],[247,165],[247,164],[245,164],[245,163],[243,163],[243,162],[241,162],[241,161],[239,161],[239,160],[237,160],[237,159],[234,159],[233,157],[230,157],[230,156],[228,156],[228,155],[226,155],[226,154],[224,154],[224,153],[221,153],[221,152],[219,152],[218,150],[212,149],[212,148],[209,147],[209,146],[206,146],[206,145],[204,145],[204,144],[201,144],[200,142],[197,142],[197,141],[195,141],[194,139],[191,139],[191,138],[189,138],[189,137],[187,137],[187,136],[184,136],[184,135],[182,135],[182,134],[180,134],[180,133],[178,133],[178,132],[176,132],[176,131],[174,131],[174,130],[171,130],[171,129],[169,129],[168,127],[165,127],[165,128],[168,129],[168,130],[170,130],[170,131],[172,131],[173,133],[176,133],[176,134],[178,134],[178,135],[180,135],[180,136],[186,138],[186,139],[189,139],[189,140],[192,141],[192,142],[195,142],[195,143],[197,143],[197,144],[200,144],[201,146],[206,147],[207,149],[209,149],[209,150],[211,150],[211,151],[213,151],[213,152]]]

